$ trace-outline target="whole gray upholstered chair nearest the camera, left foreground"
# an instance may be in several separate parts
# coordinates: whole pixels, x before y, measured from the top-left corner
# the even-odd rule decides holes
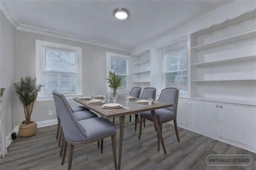
[[[52,92],[54,103],[60,117],[60,124],[65,136],[64,154],[62,165],[65,161],[67,145],[70,144],[68,153],[68,170],[71,169],[74,145],[82,145],[111,136],[114,166],[116,163],[116,126],[108,119],[103,117],[94,117],[90,119],[78,120],[73,114],[68,101],[64,95],[56,91]]]

